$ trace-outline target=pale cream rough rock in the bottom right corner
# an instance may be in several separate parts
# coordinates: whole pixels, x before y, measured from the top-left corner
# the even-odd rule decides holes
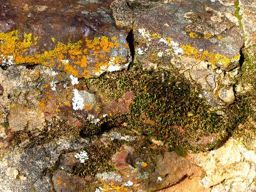
[[[255,150],[248,150],[234,138],[210,153],[192,155],[192,159],[204,168],[201,183],[212,191],[255,190]]]

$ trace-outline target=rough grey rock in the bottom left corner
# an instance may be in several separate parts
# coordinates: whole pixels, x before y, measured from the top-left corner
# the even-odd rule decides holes
[[[22,146],[17,146],[1,159],[0,191],[52,191],[54,186],[51,185],[52,175],[50,170],[56,164],[59,156],[64,150],[79,150],[86,143],[86,140],[76,142],[59,139],[52,140],[52,142],[44,145],[27,147],[26,149],[22,148]],[[62,174],[61,171],[56,171],[55,175],[58,173]],[[72,178],[69,174],[67,174],[67,177]],[[79,177],[75,176],[74,179],[76,178]],[[83,179],[79,178],[79,180]],[[69,182],[72,183],[72,180]],[[64,185],[63,182],[62,185]],[[56,190],[58,189],[56,186]]]

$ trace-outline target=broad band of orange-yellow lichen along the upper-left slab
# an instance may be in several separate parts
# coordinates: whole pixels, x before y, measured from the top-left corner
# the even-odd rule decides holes
[[[10,57],[13,64],[41,64],[62,70],[76,77],[92,77],[100,75],[109,65],[119,65],[126,62],[126,58],[110,57],[111,50],[120,47],[117,37],[94,37],[78,42],[57,42],[54,49],[43,53],[32,53],[37,48],[38,37],[24,34],[21,38],[18,31],[0,33],[0,65]],[[56,39],[52,37],[52,42]],[[128,47],[129,48],[129,47]],[[128,49],[124,46],[124,49]],[[29,53],[29,54],[28,54]],[[95,65],[88,66],[88,60],[94,60]]]

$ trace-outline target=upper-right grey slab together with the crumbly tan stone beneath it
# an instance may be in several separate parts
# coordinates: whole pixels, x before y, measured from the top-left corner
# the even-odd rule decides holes
[[[135,59],[144,69],[178,70],[202,87],[212,107],[232,103],[243,45],[234,13],[234,4],[219,1],[175,1],[150,9],[134,21]],[[230,93],[222,94],[223,87]]]

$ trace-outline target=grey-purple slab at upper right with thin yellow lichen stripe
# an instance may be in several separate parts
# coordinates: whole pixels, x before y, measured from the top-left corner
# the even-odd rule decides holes
[[[232,3],[205,0],[174,1],[151,9],[134,22],[137,59],[145,68],[190,57],[222,70],[234,69],[243,45],[234,12]]]

